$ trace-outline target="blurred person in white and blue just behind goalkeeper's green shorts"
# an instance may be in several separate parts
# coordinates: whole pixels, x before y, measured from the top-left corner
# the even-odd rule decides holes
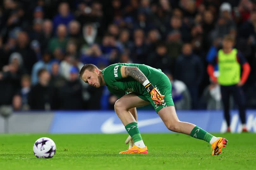
[[[175,108],[179,110],[191,109],[191,96],[185,83],[180,80],[173,79],[173,75],[169,71],[164,71],[172,84],[172,98]]]

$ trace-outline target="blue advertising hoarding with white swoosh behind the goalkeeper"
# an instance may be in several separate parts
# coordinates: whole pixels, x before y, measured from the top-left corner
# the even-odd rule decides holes
[[[231,132],[241,132],[237,111],[231,111]],[[208,132],[225,132],[227,124],[221,110],[177,111],[180,121],[200,126]],[[256,132],[256,111],[247,111],[247,128]],[[169,131],[155,111],[138,110],[138,126],[142,133]],[[126,133],[114,111],[57,111],[54,113],[51,133]]]

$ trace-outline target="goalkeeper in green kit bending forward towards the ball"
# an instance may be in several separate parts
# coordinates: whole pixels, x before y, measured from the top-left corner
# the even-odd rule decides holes
[[[131,141],[129,149],[119,154],[148,154],[137,125],[136,107],[150,103],[169,130],[205,140],[211,144],[212,155],[219,155],[227,144],[227,139],[212,136],[200,127],[178,119],[170,80],[160,69],[144,64],[117,63],[100,70],[93,64],[85,64],[79,76],[96,88],[107,85],[108,90],[119,98],[115,112],[129,134],[125,142]]]

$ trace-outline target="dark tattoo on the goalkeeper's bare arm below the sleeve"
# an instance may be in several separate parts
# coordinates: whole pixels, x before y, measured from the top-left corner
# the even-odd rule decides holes
[[[125,67],[125,76],[131,76],[141,84],[147,79],[146,76],[138,69],[138,67]]]

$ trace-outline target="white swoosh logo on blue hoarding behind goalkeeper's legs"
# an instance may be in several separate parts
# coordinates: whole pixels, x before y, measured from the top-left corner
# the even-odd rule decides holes
[[[125,126],[122,123],[114,123],[115,117],[111,117],[107,119],[102,125],[101,125],[101,132],[103,133],[119,133],[119,132],[125,132]],[[154,125],[157,123],[162,122],[162,119],[160,117],[152,118],[152,119],[145,119],[138,121],[138,126],[149,126]]]

